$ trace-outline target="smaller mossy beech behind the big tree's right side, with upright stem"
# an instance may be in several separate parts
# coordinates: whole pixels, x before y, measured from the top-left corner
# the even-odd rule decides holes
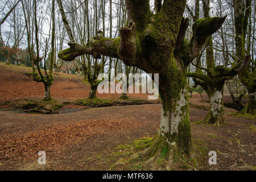
[[[209,0],[203,0],[205,19],[210,19],[209,5]],[[197,67],[197,72],[187,73],[187,76],[195,78],[194,81],[196,84],[202,86],[209,97],[210,109],[208,115],[205,119],[197,123],[212,123],[220,126],[221,123],[224,123],[223,91],[225,81],[242,72],[242,69],[246,68],[247,64],[249,64],[250,56],[246,56],[245,58],[242,57],[240,60],[238,60],[237,64],[232,66],[232,68],[225,68],[224,65],[216,67],[213,55],[212,36],[209,36],[207,40],[205,51],[207,68],[202,68],[200,64],[196,63],[194,65]],[[203,73],[202,69],[206,72],[206,74]]]

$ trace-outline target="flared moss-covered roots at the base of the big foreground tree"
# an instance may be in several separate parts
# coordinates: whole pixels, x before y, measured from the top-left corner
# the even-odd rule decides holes
[[[192,155],[181,153],[175,143],[168,143],[161,134],[156,134],[151,140],[150,147],[143,151],[133,154],[130,162],[138,161],[139,166],[146,170],[193,170],[197,168],[194,160],[195,153]]]

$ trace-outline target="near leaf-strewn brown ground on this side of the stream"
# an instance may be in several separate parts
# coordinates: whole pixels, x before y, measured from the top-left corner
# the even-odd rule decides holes
[[[207,170],[255,166],[255,120],[226,115],[222,127],[195,125],[207,111],[190,109],[192,139],[217,152]],[[152,137],[159,129],[160,105],[100,107],[69,114],[0,111],[0,169],[109,169],[119,144]],[[37,163],[46,151],[47,165]],[[205,159],[208,160],[208,159]]]

